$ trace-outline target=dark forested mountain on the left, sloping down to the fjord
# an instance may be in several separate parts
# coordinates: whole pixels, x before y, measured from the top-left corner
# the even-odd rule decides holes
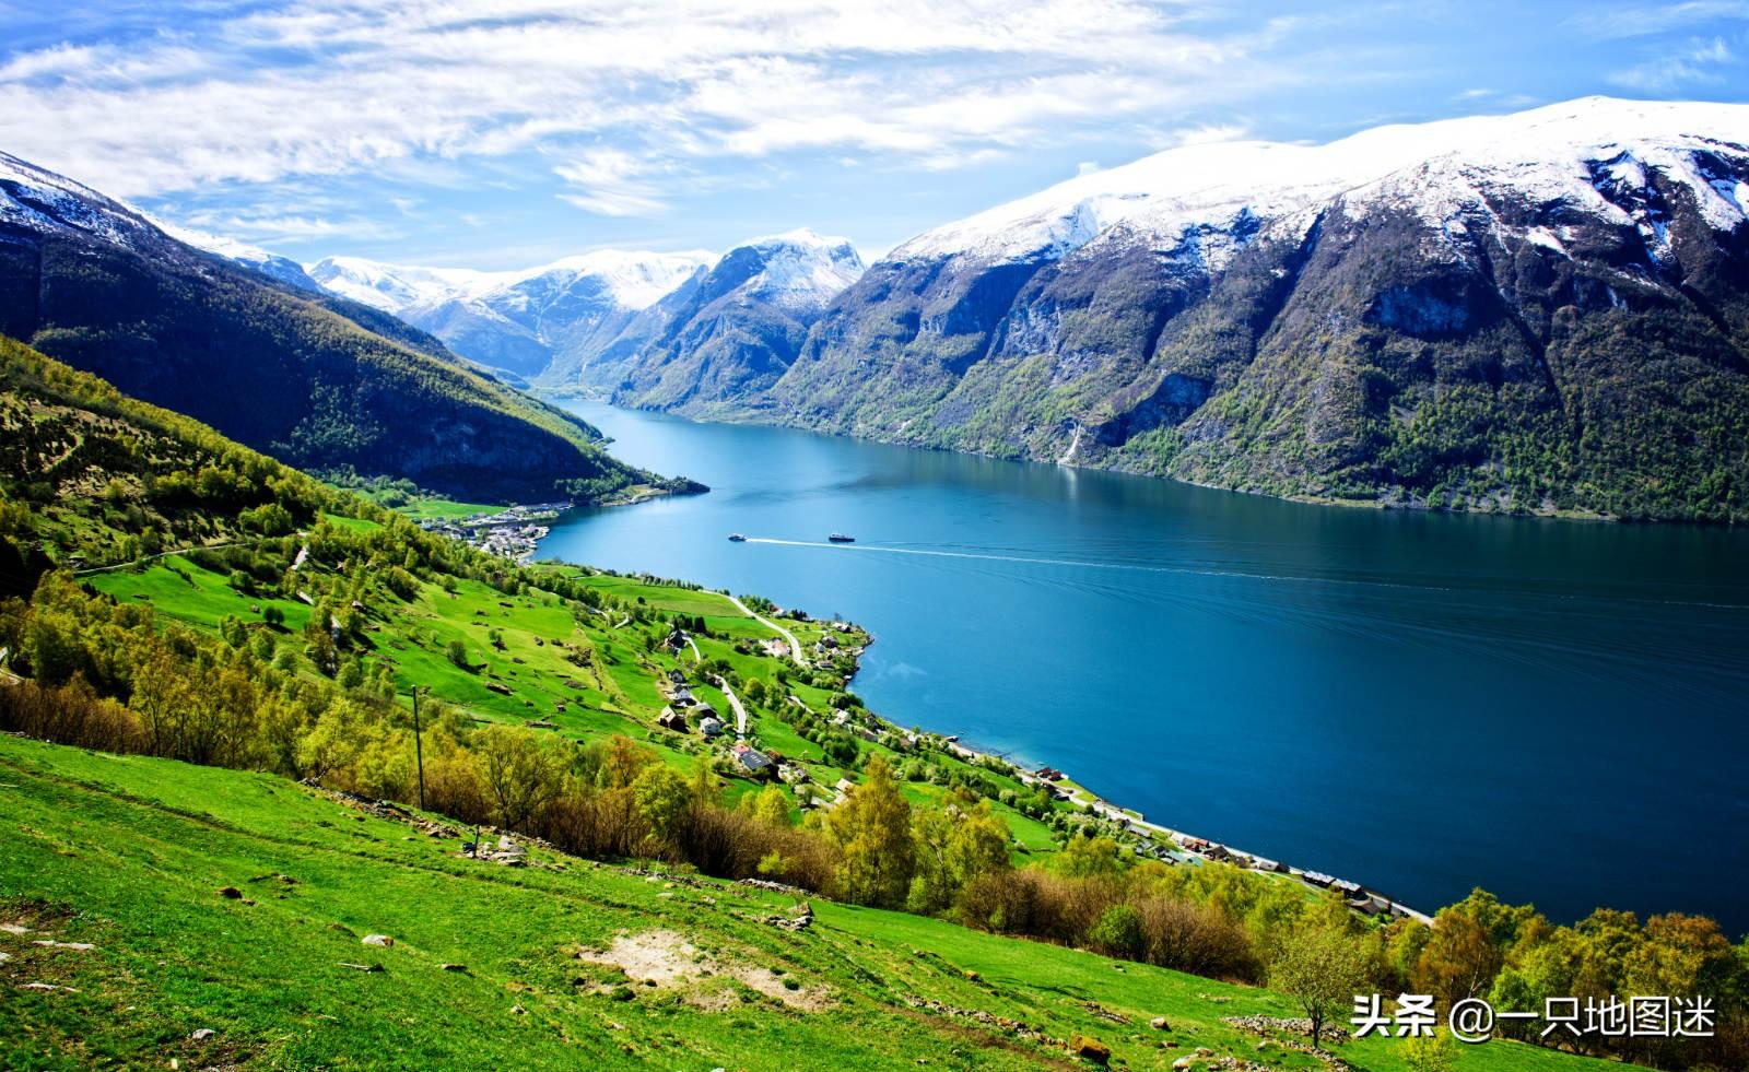
[[[306,469],[463,497],[602,498],[651,483],[581,420],[262,250],[213,255],[0,154],[0,334]]]

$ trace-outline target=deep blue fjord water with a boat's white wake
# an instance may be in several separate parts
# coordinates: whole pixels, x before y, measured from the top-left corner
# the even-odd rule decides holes
[[[712,491],[575,512],[542,558],[855,619],[876,644],[854,687],[899,724],[1417,908],[1481,885],[1560,920],[1749,929],[1749,533],[1317,507],[572,406]]]

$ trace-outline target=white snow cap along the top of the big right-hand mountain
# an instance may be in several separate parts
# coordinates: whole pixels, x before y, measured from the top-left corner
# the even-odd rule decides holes
[[[1709,182],[1695,154],[1742,156],[1749,152],[1746,142],[1749,105],[1592,96],[1511,115],[1378,126],[1319,145],[1184,145],[936,227],[892,257],[1049,261],[1119,222],[1172,241],[1228,226],[1240,213],[1275,220],[1338,196],[1350,212],[1364,212],[1389,194],[1438,217],[1478,185],[1513,185],[1536,198],[1574,198],[1595,206],[1600,196],[1586,161],[1611,161],[1623,152],[1690,185],[1707,219],[1730,227],[1744,219],[1737,187]],[[1642,185],[1644,171],[1621,178]]]

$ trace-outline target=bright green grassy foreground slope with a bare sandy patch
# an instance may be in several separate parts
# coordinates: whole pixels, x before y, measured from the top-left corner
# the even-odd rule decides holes
[[[1315,1067],[1223,1023],[1293,1014],[1263,990],[824,901],[791,932],[763,922],[794,906],[782,894],[539,852],[525,869],[460,859],[453,838],[266,775],[0,738],[0,923],[28,929],[0,930],[9,1069],[1067,1063],[1051,1042],[915,997],[1088,1034],[1133,1069],[1198,1046]],[[623,969],[679,978],[628,986]],[[203,1028],[215,1035],[191,1041]],[[1341,1056],[1406,1067],[1385,1039]],[[1459,1055],[1476,1072],[1588,1067],[1511,1042]]]

